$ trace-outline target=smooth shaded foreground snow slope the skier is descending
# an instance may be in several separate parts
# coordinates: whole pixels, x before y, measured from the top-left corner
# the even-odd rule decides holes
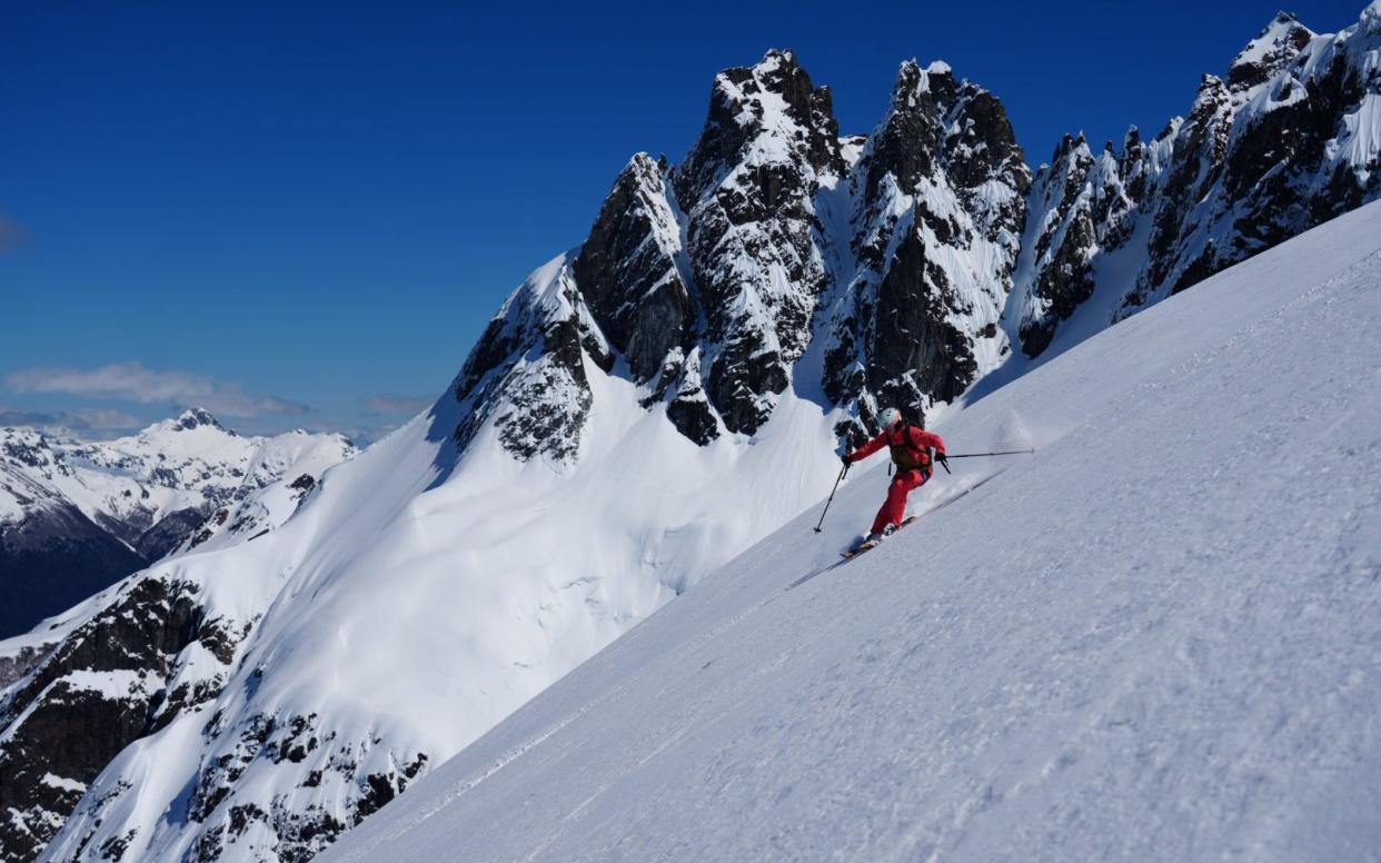
[[[819,572],[853,476],[320,859],[1378,859],[1378,416],[1371,204],[952,414],[1040,452]]]

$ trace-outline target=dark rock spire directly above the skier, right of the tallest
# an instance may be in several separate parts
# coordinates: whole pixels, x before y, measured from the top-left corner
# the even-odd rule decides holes
[[[853,177],[852,304],[833,324],[824,388],[865,420],[877,405],[920,417],[998,352],[1030,171],[992,94],[909,62]]]

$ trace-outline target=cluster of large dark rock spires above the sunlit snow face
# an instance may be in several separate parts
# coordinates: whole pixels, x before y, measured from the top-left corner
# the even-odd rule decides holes
[[[837,403],[952,399],[1000,352],[1029,184],[1001,102],[947,68],[905,64],[869,138],[840,137],[790,51],[728,69],[685,162],[634,156],[580,250],[490,324],[457,381],[457,439],[493,417],[514,456],[573,457],[581,352],[696,443],[751,435],[816,331]],[[841,302],[820,318],[826,297]],[[511,434],[515,417],[540,434]]]

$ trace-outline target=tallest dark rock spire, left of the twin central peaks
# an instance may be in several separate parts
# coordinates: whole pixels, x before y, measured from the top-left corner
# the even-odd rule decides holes
[[[809,341],[830,284],[815,196],[842,170],[829,90],[794,54],[720,73],[675,193],[708,323],[706,392],[731,432],[766,421]]]

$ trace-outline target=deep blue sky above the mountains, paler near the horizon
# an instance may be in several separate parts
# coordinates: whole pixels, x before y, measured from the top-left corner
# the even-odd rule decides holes
[[[867,131],[945,59],[1034,166],[1153,134],[1279,0],[35,3],[0,28],[0,423],[204,402],[365,436],[435,398],[637,151],[678,162],[714,73],[795,48]],[[1364,3],[1294,11],[1315,30]]]

